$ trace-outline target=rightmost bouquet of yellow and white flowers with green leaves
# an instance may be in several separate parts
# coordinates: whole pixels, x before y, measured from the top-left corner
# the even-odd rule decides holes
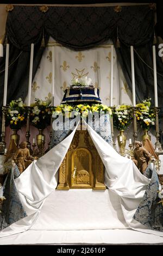
[[[143,130],[149,130],[155,124],[155,112],[151,107],[151,98],[136,105],[136,120]]]

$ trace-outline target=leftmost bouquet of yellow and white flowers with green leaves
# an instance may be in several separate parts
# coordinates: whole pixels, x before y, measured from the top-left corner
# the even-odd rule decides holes
[[[6,115],[6,125],[11,129],[21,129],[26,124],[27,112],[21,98],[12,100]]]

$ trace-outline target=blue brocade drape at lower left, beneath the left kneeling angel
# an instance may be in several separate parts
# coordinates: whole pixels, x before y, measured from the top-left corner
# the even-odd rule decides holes
[[[27,216],[26,211],[23,209],[20,197],[18,196],[14,181],[19,175],[20,172],[17,166],[15,166],[10,169],[7,178],[4,181],[3,196],[6,199],[3,201],[2,212],[0,214],[1,230]]]

